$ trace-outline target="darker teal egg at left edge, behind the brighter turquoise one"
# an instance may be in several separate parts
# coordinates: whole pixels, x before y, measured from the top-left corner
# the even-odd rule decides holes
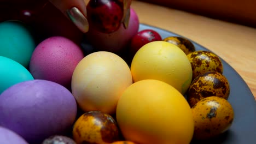
[[[27,68],[35,48],[36,41],[25,23],[15,20],[0,23],[0,56]]]

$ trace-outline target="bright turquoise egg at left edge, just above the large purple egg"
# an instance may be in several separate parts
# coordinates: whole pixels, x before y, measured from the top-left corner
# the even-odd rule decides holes
[[[0,56],[0,94],[16,83],[28,80],[34,80],[34,78],[23,65]]]

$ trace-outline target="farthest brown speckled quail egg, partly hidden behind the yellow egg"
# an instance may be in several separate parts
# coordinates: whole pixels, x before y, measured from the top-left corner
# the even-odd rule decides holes
[[[182,49],[186,55],[195,51],[195,46],[191,41],[182,37],[167,37],[163,39],[163,41],[167,41],[168,43],[174,44]]]

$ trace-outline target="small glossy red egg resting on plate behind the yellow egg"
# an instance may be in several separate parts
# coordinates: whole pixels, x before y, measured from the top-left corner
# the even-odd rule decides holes
[[[143,45],[157,40],[162,40],[161,35],[152,29],[144,29],[138,32],[131,40],[130,51],[132,57]]]

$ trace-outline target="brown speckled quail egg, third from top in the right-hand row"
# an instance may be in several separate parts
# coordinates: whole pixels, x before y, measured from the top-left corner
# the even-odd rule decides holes
[[[188,89],[188,102],[194,106],[203,98],[217,96],[228,99],[229,82],[226,77],[216,71],[210,71],[197,76]]]

